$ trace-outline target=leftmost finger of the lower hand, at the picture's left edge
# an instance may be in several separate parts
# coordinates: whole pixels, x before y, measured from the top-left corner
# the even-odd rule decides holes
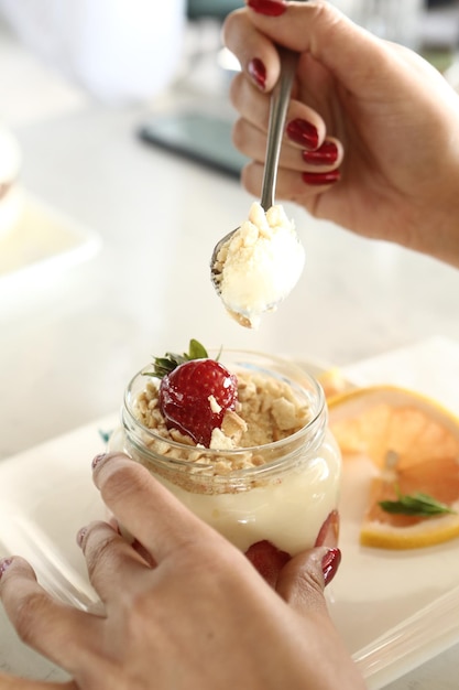
[[[99,636],[100,619],[56,602],[19,557],[0,568],[0,596],[19,637],[57,666],[73,672],[85,646]]]

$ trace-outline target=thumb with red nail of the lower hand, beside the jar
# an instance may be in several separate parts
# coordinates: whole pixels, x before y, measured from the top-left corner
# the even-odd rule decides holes
[[[341,551],[337,548],[316,547],[304,551],[284,565],[276,591],[299,613],[323,607],[324,587],[336,575],[340,562]]]

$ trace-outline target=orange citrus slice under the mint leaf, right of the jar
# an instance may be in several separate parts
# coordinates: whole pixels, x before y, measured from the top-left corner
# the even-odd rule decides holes
[[[413,549],[459,536],[459,420],[437,402],[393,386],[329,399],[330,428],[345,462],[378,468],[362,519],[362,545]],[[427,494],[452,513],[419,517],[385,511],[381,500]]]

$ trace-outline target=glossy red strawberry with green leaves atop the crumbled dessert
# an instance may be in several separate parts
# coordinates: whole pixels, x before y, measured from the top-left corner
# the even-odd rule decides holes
[[[236,376],[209,358],[196,341],[190,341],[189,354],[167,353],[155,358],[154,375],[162,377],[160,410],[167,427],[209,448],[214,429],[219,429],[227,410],[236,407]]]

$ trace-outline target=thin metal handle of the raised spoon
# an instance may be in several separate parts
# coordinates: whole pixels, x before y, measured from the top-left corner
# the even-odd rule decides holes
[[[266,162],[264,164],[261,206],[267,211],[274,204],[277,165],[284,134],[293,77],[295,76],[298,54],[277,46],[281,58],[281,76],[271,96],[270,120],[267,125]]]

